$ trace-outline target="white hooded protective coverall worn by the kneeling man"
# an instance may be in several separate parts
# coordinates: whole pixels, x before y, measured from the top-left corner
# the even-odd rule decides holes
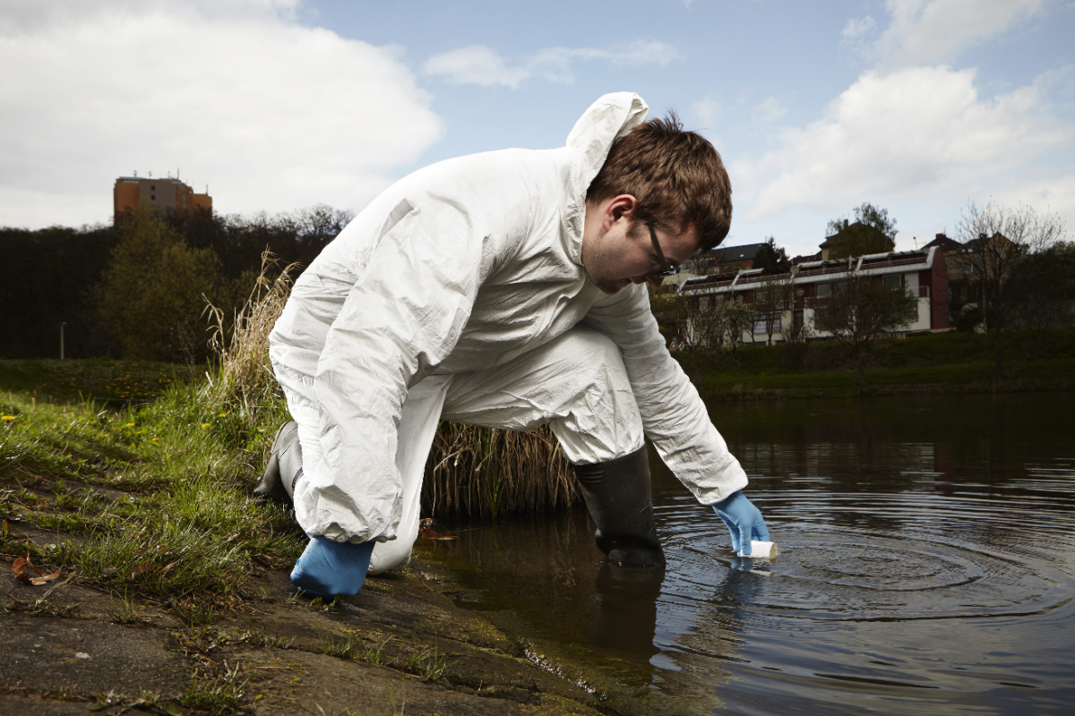
[[[441,418],[547,423],[574,464],[621,457],[645,436],[705,505],[746,485],[646,286],[606,295],[583,269],[586,190],[646,113],[636,94],[606,94],[565,147],[419,170],[296,281],[270,355],[299,426],[306,534],[376,540],[371,573],[405,566]]]

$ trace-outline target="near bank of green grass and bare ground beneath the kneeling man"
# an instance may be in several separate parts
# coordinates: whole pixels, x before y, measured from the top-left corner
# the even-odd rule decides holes
[[[3,367],[0,713],[616,713],[570,664],[554,675],[456,608],[420,543],[355,598],[297,598],[305,536],[249,497],[278,399],[240,399],[219,372],[154,391],[159,365]],[[139,391],[61,399],[101,374]]]

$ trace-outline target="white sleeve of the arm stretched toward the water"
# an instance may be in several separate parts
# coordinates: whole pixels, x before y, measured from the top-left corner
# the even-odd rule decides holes
[[[664,345],[645,286],[630,286],[598,303],[585,323],[619,346],[646,437],[694,497],[712,505],[745,487],[746,472]]]

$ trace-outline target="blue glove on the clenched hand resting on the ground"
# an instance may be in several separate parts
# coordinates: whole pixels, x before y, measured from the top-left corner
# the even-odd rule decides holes
[[[305,552],[295,562],[291,584],[311,597],[354,597],[366,582],[372,554],[373,542],[333,542],[313,535]]]

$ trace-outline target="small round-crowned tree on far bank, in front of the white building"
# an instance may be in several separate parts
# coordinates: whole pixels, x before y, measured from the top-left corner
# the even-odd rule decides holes
[[[915,320],[918,301],[902,288],[889,288],[875,277],[851,272],[833,287],[828,303],[814,315],[814,325],[831,333],[848,351],[859,374],[859,391],[866,390],[866,365],[874,344],[886,332]]]

